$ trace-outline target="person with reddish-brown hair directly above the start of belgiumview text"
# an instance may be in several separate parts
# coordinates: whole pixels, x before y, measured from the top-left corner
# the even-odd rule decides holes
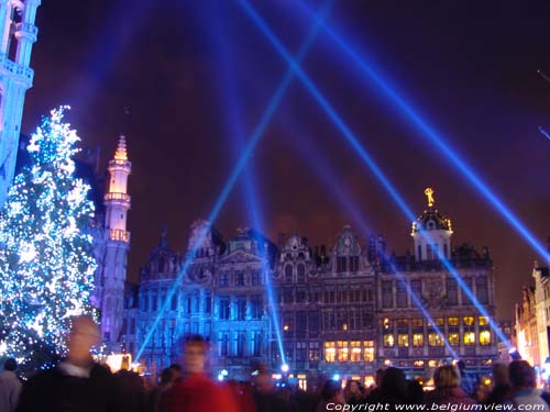
[[[476,404],[460,386],[460,371],[452,365],[443,365],[436,369],[433,383],[436,389],[426,396],[427,404],[452,404],[471,405]]]

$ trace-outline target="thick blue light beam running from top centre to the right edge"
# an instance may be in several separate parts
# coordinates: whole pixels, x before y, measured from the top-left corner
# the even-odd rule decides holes
[[[306,5],[300,3],[304,8]],[[307,9],[307,8],[306,8]],[[310,12],[310,11],[309,11]],[[314,18],[316,19],[316,18]],[[420,115],[413,109],[413,107],[404,99],[399,93],[389,86],[389,83],[378,75],[364,58],[360,57],[343,40],[342,36],[338,35],[332,29],[330,29],[324,22],[319,22],[323,27],[324,32],[332,38],[339,47],[341,47],[351,59],[362,69],[362,71],[369,76],[369,78],[383,91],[383,93],[395,103],[407,116],[407,119],[420,130],[421,135],[431,142],[451,163],[454,167],[462,172],[462,175],[474,186],[481,194],[488,201],[488,203],[508,222],[508,224],[516,230],[517,233],[530,244],[534,249],[544,258],[544,260],[550,260],[550,254],[547,248],[537,241],[537,237],[527,229],[527,226],[520,221],[518,216],[506,205],[491,190],[488,185],[486,185],[473,170],[473,168],[468,165],[468,163],[462,159],[449,143],[444,141],[442,136],[437,133],[431,125],[429,125]]]

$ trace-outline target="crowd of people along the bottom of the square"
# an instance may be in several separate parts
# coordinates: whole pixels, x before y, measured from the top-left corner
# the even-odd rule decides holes
[[[15,374],[15,360],[7,359],[0,372],[0,412],[398,411],[400,405],[411,404],[429,411],[512,405],[512,410],[550,412],[550,394],[536,389],[535,370],[525,360],[493,365],[492,388],[472,379],[459,363],[436,369],[431,391],[407,380],[394,367],[380,369],[371,388],[354,380],[342,388],[340,381],[320,379],[304,391],[289,382],[276,386],[263,368],[248,382],[212,380],[206,372],[208,342],[195,335],[185,343],[183,366],[166,368],[158,383],[147,388],[133,371],[111,374],[96,363],[90,348],[99,341],[94,320],[76,318],[67,335],[65,359],[23,385]]]

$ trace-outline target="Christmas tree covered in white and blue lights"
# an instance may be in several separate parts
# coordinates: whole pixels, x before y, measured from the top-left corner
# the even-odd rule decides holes
[[[90,189],[74,176],[76,131],[62,107],[31,137],[31,164],[0,212],[0,357],[37,368],[64,354],[72,315],[91,313]]]

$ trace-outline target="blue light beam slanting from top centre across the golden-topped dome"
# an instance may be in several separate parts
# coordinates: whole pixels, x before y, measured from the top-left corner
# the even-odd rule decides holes
[[[286,64],[292,67],[296,76],[300,79],[300,81],[304,83],[304,86],[307,88],[307,90],[311,93],[311,96],[317,100],[319,105],[324,110],[328,118],[332,120],[334,125],[340,130],[340,132],[343,134],[348,143],[355,149],[355,152],[359,154],[361,159],[365,163],[365,165],[371,169],[371,171],[374,174],[374,176],[378,179],[378,181],[384,186],[386,191],[389,193],[392,199],[397,203],[399,209],[404,212],[404,214],[410,220],[415,221],[416,218],[408,207],[408,204],[404,201],[404,199],[400,197],[399,192],[395,189],[395,187],[392,185],[389,179],[385,176],[383,170],[380,168],[380,166],[375,163],[375,160],[369,155],[366,149],[363,147],[363,145],[359,142],[356,136],[353,134],[353,132],[349,129],[349,126],[344,123],[344,121],[340,118],[340,115],[337,113],[337,111],[332,108],[332,105],[329,103],[329,101],[324,98],[324,96],[319,91],[317,86],[311,81],[311,79],[301,70],[301,68],[296,64],[296,62],[293,59],[290,54],[286,51],[286,48],[283,46],[283,44],[279,42],[279,40],[274,35],[272,30],[267,26],[267,24],[263,21],[263,19],[257,14],[257,12],[252,8],[252,5],[246,1],[246,0],[240,0],[241,5],[248,13],[248,15],[251,18],[251,20],[256,24],[256,26],[260,29],[262,34],[268,40],[268,42],[274,46],[274,48],[280,54],[280,56],[284,58]],[[420,234],[431,242],[431,236],[426,232],[422,231]],[[447,259],[446,256],[439,252],[439,249],[435,250],[438,258],[441,260],[443,266],[449,270],[449,272],[453,276],[453,278],[457,280],[457,283],[459,287],[464,291],[464,293],[470,298],[471,302],[476,307],[476,309],[480,311],[480,313],[487,318],[490,326],[493,329],[493,331],[498,335],[498,338],[501,338],[502,342],[506,344],[506,336],[502,333],[499,327],[496,325],[494,320],[490,316],[488,312],[485,310],[485,308],[479,302],[477,298],[473,294],[473,292],[470,290],[470,288],[465,285],[464,280],[461,278],[461,276],[457,272],[457,269],[452,266],[452,264]]]

